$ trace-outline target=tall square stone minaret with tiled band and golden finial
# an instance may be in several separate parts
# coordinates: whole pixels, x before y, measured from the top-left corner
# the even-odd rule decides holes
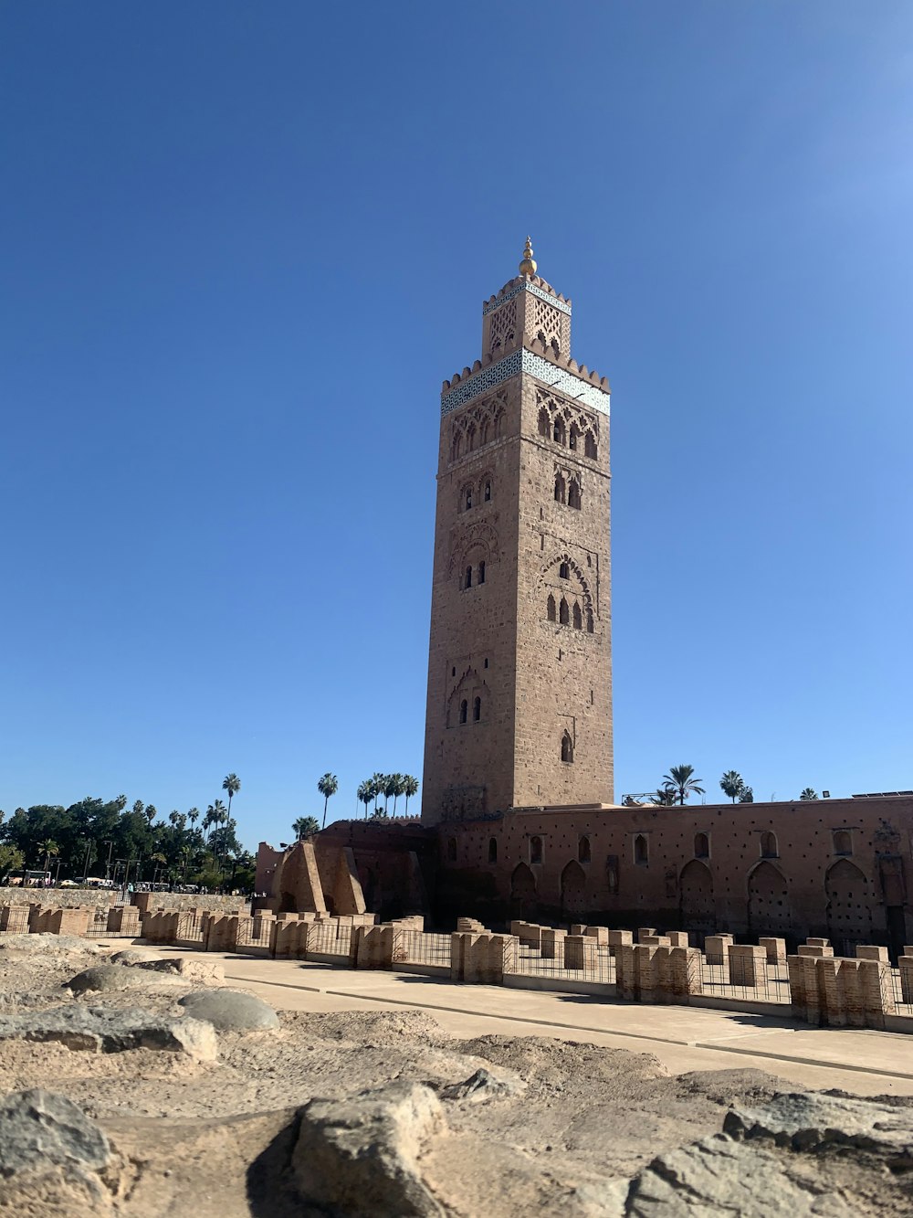
[[[429,823],[612,799],[609,382],[532,253],[441,393]]]

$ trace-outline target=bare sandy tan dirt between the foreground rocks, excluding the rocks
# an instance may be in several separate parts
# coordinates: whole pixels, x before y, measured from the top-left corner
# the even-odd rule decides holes
[[[30,938],[45,943],[4,946],[0,940],[0,1017],[79,1004],[178,1015],[177,999],[194,988],[149,973],[139,989],[73,995],[66,983],[116,949]],[[114,1150],[101,1186],[65,1169],[47,1173],[44,1183],[34,1172],[0,1178],[0,1214],[362,1212],[302,1197],[290,1169],[296,1113],[315,1097],[358,1096],[392,1082],[431,1088],[446,1112],[446,1130],[420,1151],[421,1177],[438,1208],[403,1212],[651,1214],[629,1192],[632,1179],[657,1156],[719,1135],[732,1106],[757,1108],[796,1090],[756,1069],[672,1077],[652,1055],[588,1044],[459,1039],[418,1011],[282,1012],[280,1019],[275,1030],[219,1032],[217,1061],[150,1049],[96,1054],[0,1040],[4,1094],[44,1088],[67,1096],[101,1125]],[[481,1102],[447,1099],[447,1088],[482,1067],[500,1084],[498,1094]],[[892,1108],[911,1104],[885,1102]],[[913,1213],[908,1173],[886,1166],[884,1157],[844,1147],[825,1166],[822,1156],[799,1163],[794,1151],[779,1153],[792,1180],[807,1177],[802,1188],[810,1205],[824,1206],[808,1213],[844,1213],[838,1202],[847,1214]],[[752,1212],[683,1205],[656,1212]]]

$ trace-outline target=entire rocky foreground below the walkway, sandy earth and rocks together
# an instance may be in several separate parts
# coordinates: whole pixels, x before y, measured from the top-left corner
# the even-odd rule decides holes
[[[118,955],[0,939],[2,1218],[913,1214],[911,1100],[276,1017],[206,956]]]

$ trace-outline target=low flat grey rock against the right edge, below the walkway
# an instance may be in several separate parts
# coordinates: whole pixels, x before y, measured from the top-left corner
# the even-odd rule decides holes
[[[825,1144],[875,1151],[891,1167],[913,1168],[913,1111],[878,1101],[844,1099],[817,1091],[778,1095],[758,1108],[734,1108],[723,1129],[733,1138],[767,1139],[791,1150]]]

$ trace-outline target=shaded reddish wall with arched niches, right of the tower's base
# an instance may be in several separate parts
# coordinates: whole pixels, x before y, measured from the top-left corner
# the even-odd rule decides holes
[[[527,809],[439,833],[441,918],[638,926],[649,915],[698,933],[895,950],[913,938],[908,797]]]

